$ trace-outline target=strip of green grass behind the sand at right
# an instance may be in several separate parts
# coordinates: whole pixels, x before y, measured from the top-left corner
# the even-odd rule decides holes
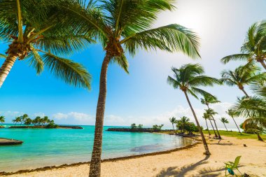
[[[211,135],[214,135],[213,130],[210,130],[210,132]],[[203,133],[209,134],[207,130],[204,130]],[[231,131],[226,132],[225,130],[219,130],[219,133],[221,134],[221,136],[231,136],[237,139],[258,139],[258,136],[256,134],[245,134],[245,133],[240,134],[239,132],[231,132]],[[266,140],[266,134],[260,134],[260,136],[262,139]]]

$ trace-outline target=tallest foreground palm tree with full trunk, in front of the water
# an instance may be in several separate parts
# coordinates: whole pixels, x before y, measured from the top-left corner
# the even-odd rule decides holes
[[[90,177],[100,176],[102,131],[106,103],[107,70],[116,63],[128,73],[126,52],[134,56],[139,49],[183,52],[199,57],[199,38],[179,24],[153,28],[158,14],[174,10],[174,0],[103,0],[69,1],[60,7],[70,15],[68,22],[79,32],[94,36],[102,43],[105,57],[100,74],[99,97],[94,131],[94,145],[90,162]]]

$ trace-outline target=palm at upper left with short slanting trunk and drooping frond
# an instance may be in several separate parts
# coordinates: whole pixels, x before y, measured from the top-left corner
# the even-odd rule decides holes
[[[84,66],[59,57],[83,48],[92,41],[85,35],[76,35],[73,27],[61,20],[63,15],[41,0],[3,0],[0,2],[0,38],[8,41],[7,56],[0,68],[0,87],[18,60],[28,60],[39,74],[45,66],[66,83],[90,88],[90,74]],[[35,4],[34,6],[32,4]],[[48,4],[48,6],[45,6]],[[41,55],[41,53],[43,55]]]

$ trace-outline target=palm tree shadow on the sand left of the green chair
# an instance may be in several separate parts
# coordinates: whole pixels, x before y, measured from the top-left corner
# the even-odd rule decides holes
[[[167,177],[167,176],[183,177],[189,171],[193,171],[195,169],[195,167],[197,167],[201,164],[207,164],[208,162],[206,162],[206,160],[208,160],[208,159],[209,159],[209,156],[206,156],[203,160],[200,160],[199,162],[197,162],[195,164],[183,166],[183,167],[181,167],[181,169],[179,169],[178,167],[169,167],[167,169],[163,169],[162,171],[160,171],[160,173],[156,177]],[[207,168],[200,169],[199,171],[197,171],[198,174],[195,176],[202,176],[202,177],[221,176],[220,171],[223,171],[223,170],[225,170],[225,168],[213,169],[211,167],[207,167]],[[215,172],[217,172],[217,173],[215,173]]]

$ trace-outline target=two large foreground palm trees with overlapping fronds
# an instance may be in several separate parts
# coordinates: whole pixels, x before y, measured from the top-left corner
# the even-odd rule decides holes
[[[0,87],[15,62],[28,61],[40,74],[47,69],[57,78],[90,89],[85,66],[66,59],[90,43],[102,44],[102,62],[90,177],[100,176],[102,131],[110,63],[128,71],[126,53],[139,49],[183,52],[200,57],[198,36],[179,24],[153,28],[158,15],[174,10],[174,0],[1,0],[0,40],[8,41],[0,68]]]

